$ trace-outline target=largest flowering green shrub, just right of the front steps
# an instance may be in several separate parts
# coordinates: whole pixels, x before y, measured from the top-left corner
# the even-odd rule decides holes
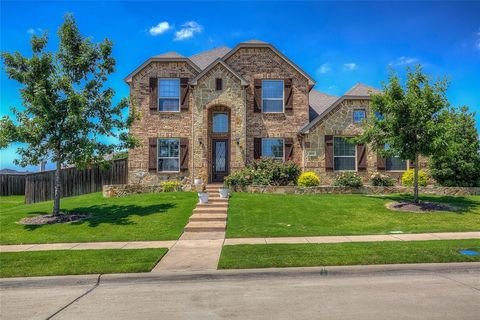
[[[247,185],[286,186],[297,182],[300,167],[293,161],[281,162],[273,159],[256,160],[245,168],[225,178],[227,187]]]

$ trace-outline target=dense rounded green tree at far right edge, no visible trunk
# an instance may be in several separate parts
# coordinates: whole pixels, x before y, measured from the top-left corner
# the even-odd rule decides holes
[[[442,146],[429,162],[432,177],[448,187],[480,186],[480,143],[475,116],[467,107],[440,115],[445,124]]]

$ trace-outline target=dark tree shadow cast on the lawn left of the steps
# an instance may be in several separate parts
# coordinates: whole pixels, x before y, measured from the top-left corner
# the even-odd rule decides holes
[[[94,205],[90,207],[75,208],[68,210],[68,212],[76,214],[86,214],[88,218],[81,221],[71,222],[70,225],[88,224],[88,227],[97,227],[100,224],[108,223],[112,225],[133,225],[136,224],[130,219],[130,216],[148,216],[151,214],[165,214],[168,210],[175,208],[174,203],[161,203],[150,206],[137,205]],[[28,214],[49,214],[47,212],[29,212]],[[28,231],[34,231],[44,225],[25,225],[24,228]]]

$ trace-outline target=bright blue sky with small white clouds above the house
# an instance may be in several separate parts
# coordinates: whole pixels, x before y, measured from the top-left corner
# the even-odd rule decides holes
[[[19,2],[2,1],[1,51],[30,54],[29,38],[48,30],[50,47],[66,12],[83,35],[114,42],[116,99],[123,78],[148,57],[191,55],[260,39],[275,45],[316,81],[341,95],[356,82],[380,87],[392,66],[400,75],[415,63],[451,80],[452,105],[477,112],[480,128],[480,2]],[[21,108],[19,85],[0,75],[0,116]],[[1,151],[0,168],[14,168],[18,145]],[[36,170],[36,167],[27,167]],[[25,169],[24,169],[25,170]]]

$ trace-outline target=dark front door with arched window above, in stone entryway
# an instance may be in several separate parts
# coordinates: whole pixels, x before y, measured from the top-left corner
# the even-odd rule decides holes
[[[230,108],[214,106],[208,110],[209,180],[223,182],[230,173]]]

